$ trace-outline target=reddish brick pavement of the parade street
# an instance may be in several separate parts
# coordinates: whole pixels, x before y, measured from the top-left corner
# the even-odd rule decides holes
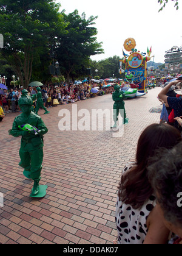
[[[75,104],[49,108],[50,115],[40,110],[49,129],[44,137],[40,182],[48,189],[42,199],[29,197],[33,181],[26,179],[18,166],[21,138],[8,135],[19,113],[9,113],[0,123],[0,193],[4,196],[0,243],[112,244],[117,235],[115,204],[121,170],[135,159],[141,132],[160,121],[159,113],[149,113],[151,107],[160,105],[160,90],[125,101],[129,124],[121,138],[113,138],[113,132],[106,129],[61,132],[59,110],[72,112]],[[77,107],[90,113],[93,108],[112,110],[112,95],[80,101]]]

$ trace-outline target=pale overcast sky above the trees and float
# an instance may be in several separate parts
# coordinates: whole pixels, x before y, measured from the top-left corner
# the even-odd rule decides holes
[[[104,54],[91,57],[104,60],[114,55],[123,57],[124,41],[132,37],[138,51],[147,51],[152,46],[154,62],[164,63],[165,51],[172,46],[182,46],[182,4],[176,10],[175,2],[169,3],[158,12],[158,0],[57,0],[66,14],[78,10],[79,15],[98,16],[95,27],[97,41],[103,42]],[[124,50],[125,51],[125,50]],[[126,52],[126,51],[125,51]],[[126,52],[128,54],[128,52]],[[153,58],[152,58],[153,60]]]

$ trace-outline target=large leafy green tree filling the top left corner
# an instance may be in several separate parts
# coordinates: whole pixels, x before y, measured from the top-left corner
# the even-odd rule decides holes
[[[65,30],[59,4],[53,0],[0,0],[2,55],[25,88],[32,77],[33,61],[48,54],[53,38]]]

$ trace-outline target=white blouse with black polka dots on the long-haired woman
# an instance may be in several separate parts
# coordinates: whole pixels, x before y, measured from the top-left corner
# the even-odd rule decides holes
[[[129,163],[124,172],[131,169],[135,163]],[[118,244],[142,244],[147,234],[146,220],[156,205],[155,196],[140,209],[133,209],[131,205],[123,204],[117,199],[116,203],[116,227],[118,230]]]

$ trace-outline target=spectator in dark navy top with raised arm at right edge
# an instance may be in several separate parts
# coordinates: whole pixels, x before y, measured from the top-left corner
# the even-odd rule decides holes
[[[181,80],[172,80],[169,82],[166,87],[161,90],[161,92],[158,94],[158,98],[164,101],[165,104],[167,104],[167,107],[174,109],[174,118],[177,118],[179,116],[182,116],[182,98],[174,98],[167,96],[168,91],[172,86],[178,86],[180,89],[175,90],[175,93],[182,95],[182,81]],[[181,126],[178,124],[177,120],[175,120],[174,126],[181,131]]]

